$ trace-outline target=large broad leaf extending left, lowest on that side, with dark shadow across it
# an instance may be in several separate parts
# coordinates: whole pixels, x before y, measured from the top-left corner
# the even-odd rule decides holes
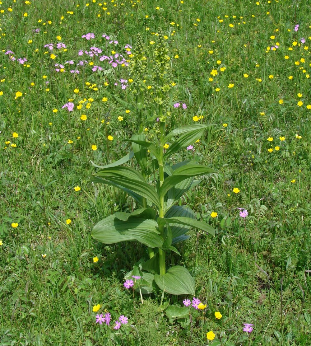
[[[157,235],[157,223],[154,220],[141,218],[130,218],[128,221],[121,221],[115,215],[110,215],[97,222],[92,230],[92,237],[104,244],[114,244],[127,240],[136,240],[137,234],[125,234],[126,231],[149,231]],[[161,244],[162,245],[162,244]]]

